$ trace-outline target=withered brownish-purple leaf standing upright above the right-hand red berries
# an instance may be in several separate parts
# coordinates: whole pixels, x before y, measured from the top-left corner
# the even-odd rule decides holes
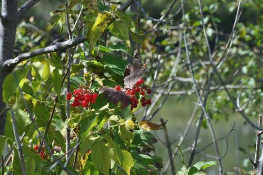
[[[133,64],[129,64],[124,71],[124,88],[130,88],[143,77],[145,66],[142,65],[141,56],[135,52],[133,55]]]

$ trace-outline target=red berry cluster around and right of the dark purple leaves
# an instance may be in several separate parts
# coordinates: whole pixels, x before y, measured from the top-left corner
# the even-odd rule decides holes
[[[135,85],[133,86],[132,89],[128,89],[128,88],[124,89],[125,93],[127,95],[131,96],[131,110],[133,108],[136,108],[138,103],[139,103],[139,100],[136,98],[136,94],[138,94],[138,93],[141,95],[140,101],[142,103],[142,106],[146,106],[146,105],[150,105],[151,104],[151,100],[150,99],[147,100],[145,98],[145,94],[146,93],[150,94],[151,93],[151,89],[147,88],[146,86],[141,86],[141,85],[143,85],[143,83],[144,83],[144,80],[141,78],[135,83]],[[119,85],[115,86],[115,89],[118,90],[118,91],[122,90],[122,88]]]

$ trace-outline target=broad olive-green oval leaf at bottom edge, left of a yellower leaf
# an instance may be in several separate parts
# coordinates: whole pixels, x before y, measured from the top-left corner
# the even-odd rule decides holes
[[[104,142],[98,142],[93,146],[91,159],[95,168],[97,168],[101,174],[109,175],[111,158],[113,158],[113,150],[105,146]]]

